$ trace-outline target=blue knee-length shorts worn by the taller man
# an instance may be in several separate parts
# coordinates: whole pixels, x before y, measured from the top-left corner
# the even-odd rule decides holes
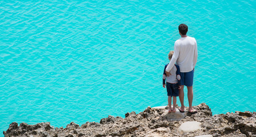
[[[193,86],[194,69],[190,72],[180,72],[180,83],[187,87]]]

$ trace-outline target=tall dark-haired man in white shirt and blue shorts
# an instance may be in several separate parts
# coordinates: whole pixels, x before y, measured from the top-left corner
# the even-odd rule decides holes
[[[170,73],[171,68],[174,66],[175,62],[180,67],[180,77],[181,77],[181,88],[179,90],[179,99],[182,106],[179,108],[180,112],[184,112],[184,85],[187,86],[187,96],[188,96],[188,112],[195,114],[197,111],[192,108],[193,100],[193,77],[194,68],[196,61],[198,59],[198,47],[195,38],[187,36],[188,27],[187,25],[179,25],[179,34],[182,38],[178,39],[174,44],[174,55],[166,68],[166,74],[172,75]]]

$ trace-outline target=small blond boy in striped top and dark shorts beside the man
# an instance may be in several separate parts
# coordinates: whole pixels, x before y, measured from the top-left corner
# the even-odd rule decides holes
[[[169,60],[171,60],[172,55],[174,55],[174,51],[170,51],[168,54]],[[180,85],[180,67],[178,65],[174,65],[174,67],[171,68],[171,75],[166,75],[166,67],[168,64],[164,67],[164,74],[163,74],[163,87],[167,89],[167,95],[168,95],[168,106],[169,106],[169,113],[170,112],[176,112],[176,96],[179,96],[179,89],[181,88]],[[165,87],[166,86],[166,87]],[[172,98],[173,99],[173,107],[172,104]]]

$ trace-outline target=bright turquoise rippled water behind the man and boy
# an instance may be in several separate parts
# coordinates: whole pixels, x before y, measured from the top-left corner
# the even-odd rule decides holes
[[[65,127],[166,105],[162,73],[180,23],[198,42],[193,105],[205,102],[214,114],[255,111],[255,7],[0,1],[0,131],[11,122]]]

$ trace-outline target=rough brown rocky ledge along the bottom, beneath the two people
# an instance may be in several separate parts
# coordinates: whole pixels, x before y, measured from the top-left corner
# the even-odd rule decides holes
[[[178,106],[176,106],[178,108]],[[256,136],[256,112],[227,112],[212,116],[205,104],[194,106],[198,113],[175,112],[168,107],[146,108],[136,114],[128,112],[125,118],[108,116],[100,123],[86,122],[79,126],[71,122],[63,127],[50,126],[49,122],[34,125],[11,123],[3,134],[7,136]]]

